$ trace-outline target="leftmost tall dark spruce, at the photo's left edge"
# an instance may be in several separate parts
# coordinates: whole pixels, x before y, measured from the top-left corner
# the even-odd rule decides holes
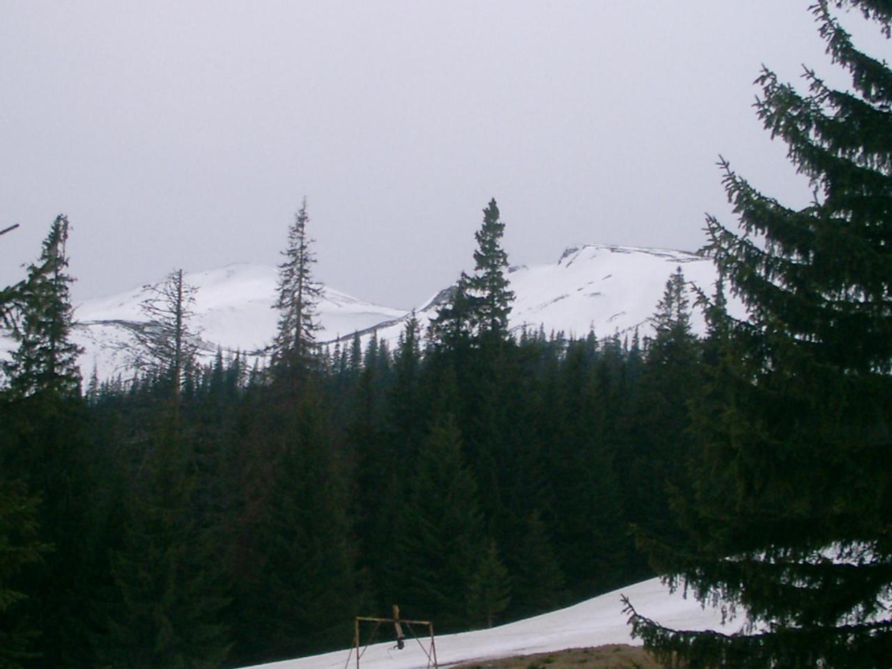
[[[39,497],[39,540],[54,549],[21,574],[28,599],[16,615],[29,617],[41,632],[36,666],[89,664],[82,613],[100,561],[91,523],[95,460],[88,452],[79,349],[70,339],[69,229],[65,216],[54,219],[39,259],[16,290],[19,346],[5,365],[9,387],[0,402],[0,478]]]

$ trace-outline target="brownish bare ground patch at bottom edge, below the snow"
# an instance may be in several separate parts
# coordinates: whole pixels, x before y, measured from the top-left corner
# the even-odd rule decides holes
[[[450,669],[664,669],[664,665],[644,648],[618,643],[467,662]]]

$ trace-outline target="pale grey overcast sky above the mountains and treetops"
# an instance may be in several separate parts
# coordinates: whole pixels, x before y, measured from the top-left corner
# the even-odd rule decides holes
[[[845,81],[811,2],[0,0],[0,283],[60,212],[76,301],[274,264],[304,195],[318,279],[395,307],[473,268],[491,197],[514,264],[695,250],[720,153],[808,200],[751,105],[763,62]]]

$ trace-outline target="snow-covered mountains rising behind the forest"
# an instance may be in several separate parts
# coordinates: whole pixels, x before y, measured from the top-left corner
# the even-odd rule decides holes
[[[663,296],[665,283],[675,268],[707,293],[716,272],[711,260],[693,253],[665,249],[585,244],[568,248],[556,263],[511,268],[508,274],[515,301],[509,326],[547,334],[563,332],[582,337],[594,330],[599,337],[652,331],[649,318]],[[160,277],[161,278],[161,277]],[[262,356],[276,334],[277,269],[235,264],[184,276],[197,289],[194,326],[201,332],[202,351],[212,356],[224,351],[245,351]],[[417,310],[422,330],[436,316],[446,288]],[[83,346],[81,369],[85,378],[96,368],[100,378],[131,374],[133,332],[145,325],[140,304],[142,288],[84,301],[75,310],[73,338]],[[326,287],[318,304],[318,341],[349,339],[354,333],[395,344],[410,312],[353,298]],[[704,329],[695,312],[695,331]],[[5,343],[9,348],[9,342]]]

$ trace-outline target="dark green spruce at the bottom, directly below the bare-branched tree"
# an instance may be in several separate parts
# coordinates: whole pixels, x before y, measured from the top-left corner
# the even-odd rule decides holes
[[[229,649],[227,588],[197,522],[191,454],[169,426],[152,446],[112,561],[120,604],[101,654],[114,667],[216,667]]]

